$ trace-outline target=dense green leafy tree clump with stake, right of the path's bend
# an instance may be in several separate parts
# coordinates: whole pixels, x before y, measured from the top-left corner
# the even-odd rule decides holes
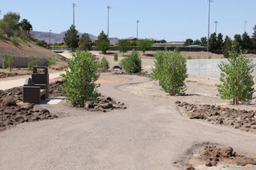
[[[159,79],[161,90],[174,96],[184,95],[186,85],[184,79],[187,78],[187,61],[179,52],[157,52],[157,62],[153,71],[153,78]],[[154,75],[154,73],[156,73]]]

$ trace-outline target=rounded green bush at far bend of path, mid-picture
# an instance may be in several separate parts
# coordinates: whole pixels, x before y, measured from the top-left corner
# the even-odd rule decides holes
[[[139,52],[134,49],[132,54],[121,60],[121,64],[128,73],[140,73],[142,71],[142,58],[139,57]]]

